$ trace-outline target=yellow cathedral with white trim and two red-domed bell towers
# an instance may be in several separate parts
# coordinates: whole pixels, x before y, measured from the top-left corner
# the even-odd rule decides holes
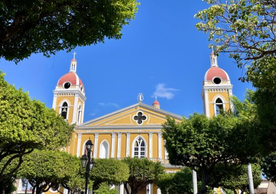
[[[210,55],[210,61],[211,66],[205,73],[201,93],[203,112],[208,117],[232,108],[229,97],[233,87],[228,74],[219,68],[214,52]],[[180,169],[181,166],[172,166],[168,162],[166,142],[162,139],[162,124],[166,116],[177,122],[181,121],[182,116],[162,110],[157,100],[152,105],[144,104],[140,93],[136,104],[83,122],[85,101],[85,87],[77,74],[77,60],[74,56],[69,73],[58,80],[54,90],[53,109],[69,124],[76,124],[71,142],[63,151],[81,157],[85,152],[85,142],[91,139],[94,158],[146,157],[161,162],[167,173]],[[123,185],[115,188],[118,194],[126,194]],[[148,188],[149,194],[161,194],[154,184]],[[49,193],[56,192],[49,190]],[[67,191],[63,193],[67,194]]]

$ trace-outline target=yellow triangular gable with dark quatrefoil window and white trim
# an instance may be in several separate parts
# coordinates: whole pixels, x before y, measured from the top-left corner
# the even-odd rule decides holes
[[[140,112],[139,115],[138,112]],[[139,116],[142,117],[139,118]],[[177,114],[156,109],[143,103],[137,103],[124,109],[120,109],[87,121],[79,127],[156,126],[162,125],[166,121],[166,116],[174,118],[177,121],[182,119],[182,116]]]

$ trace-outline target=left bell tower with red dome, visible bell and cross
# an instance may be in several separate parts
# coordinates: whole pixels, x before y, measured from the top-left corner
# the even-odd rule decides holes
[[[54,90],[53,109],[69,124],[83,123],[84,103],[86,100],[82,80],[77,75],[77,60],[70,63],[69,73],[63,75]]]

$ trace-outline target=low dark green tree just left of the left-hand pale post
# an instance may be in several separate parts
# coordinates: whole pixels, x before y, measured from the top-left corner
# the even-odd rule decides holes
[[[192,170],[184,167],[176,173],[161,174],[156,185],[162,194],[193,194]],[[198,186],[200,186],[200,181]]]

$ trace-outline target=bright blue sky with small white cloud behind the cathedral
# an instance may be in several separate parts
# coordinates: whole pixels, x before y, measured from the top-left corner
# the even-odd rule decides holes
[[[122,39],[74,50],[87,98],[84,121],[137,103],[138,93],[148,105],[157,94],[161,109],[179,115],[203,111],[202,81],[211,50],[208,35],[194,27],[199,21],[193,15],[208,5],[201,0],[139,2],[136,19],[123,28]],[[61,51],[50,58],[31,55],[18,65],[0,59],[0,69],[6,81],[51,108],[55,85],[69,72],[72,58],[73,52]],[[242,70],[226,54],[218,64],[229,74],[233,94],[243,99],[251,85],[238,81]]]

